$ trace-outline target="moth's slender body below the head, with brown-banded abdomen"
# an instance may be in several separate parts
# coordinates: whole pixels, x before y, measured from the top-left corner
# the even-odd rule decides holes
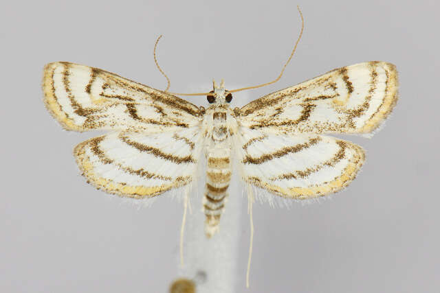
[[[226,113],[214,112],[210,143],[206,152],[206,191],[203,197],[203,211],[206,215],[205,233],[212,237],[219,228],[221,214],[228,198],[228,187],[232,174],[231,145],[226,127]]]

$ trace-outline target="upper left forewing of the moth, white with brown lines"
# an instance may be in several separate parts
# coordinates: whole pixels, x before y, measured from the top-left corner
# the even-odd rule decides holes
[[[101,69],[45,66],[44,102],[67,130],[179,131],[199,124],[203,108]]]

